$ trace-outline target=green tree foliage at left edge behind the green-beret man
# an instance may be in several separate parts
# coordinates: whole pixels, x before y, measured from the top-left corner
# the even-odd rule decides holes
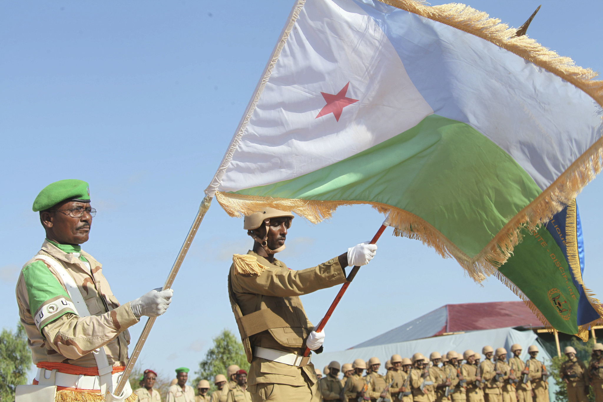
[[[31,351],[21,322],[15,333],[4,328],[0,333],[0,401],[13,401],[17,385],[27,383]]]

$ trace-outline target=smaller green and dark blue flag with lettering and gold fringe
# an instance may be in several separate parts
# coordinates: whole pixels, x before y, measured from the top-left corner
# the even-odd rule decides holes
[[[582,281],[584,242],[575,200],[540,228],[524,229],[523,235],[496,276],[546,327],[586,341],[603,309]]]

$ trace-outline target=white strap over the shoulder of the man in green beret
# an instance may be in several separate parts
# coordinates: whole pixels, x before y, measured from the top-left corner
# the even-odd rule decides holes
[[[55,271],[60,275],[63,283],[65,283],[65,289],[71,298],[71,301],[74,303],[75,311],[80,317],[87,317],[90,315],[88,311],[88,307],[86,306],[86,302],[84,302],[84,298],[81,296],[80,289],[75,284],[74,278],[69,275],[69,272],[60,265],[57,260],[52,257],[48,257],[45,254],[37,254],[36,259],[41,259],[47,262]],[[113,393],[113,381],[112,381],[112,366],[109,365],[109,360],[107,360],[107,353],[105,353],[105,348],[100,347],[96,350],[92,351],[94,355],[94,359],[96,360],[96,366],[98,368],[98,374],[100,376],[101,382],[101,393],[104,394],[107,390],[110,393]]]

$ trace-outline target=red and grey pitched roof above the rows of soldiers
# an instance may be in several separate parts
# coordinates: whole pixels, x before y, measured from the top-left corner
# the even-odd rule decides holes
[[[353,348],[387,345],[444,333],[505,327],[543,327],[523,301],[446,304]]]

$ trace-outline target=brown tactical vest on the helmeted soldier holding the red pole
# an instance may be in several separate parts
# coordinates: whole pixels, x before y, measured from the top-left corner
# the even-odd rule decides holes
[[[239,327],[241,341],[249,363],[253,359],[253,347],[256,346],[251,345],[249,338],[263,331],[268,331],[272,338],[283,348],[297,349],[305,346],[305,340],[308,338],[310,331],[308,329],[308,318],[299,297],[274,297],[256,294],[255,311],[243,315],[241,307],[235,300],[231,275],[233,275],[233,269],[230,270],[228,277],[230,307],[232,307],[232,312],[235,314],[236,324]],[[290,353],[297,353],[297,350],[292,350]]]

